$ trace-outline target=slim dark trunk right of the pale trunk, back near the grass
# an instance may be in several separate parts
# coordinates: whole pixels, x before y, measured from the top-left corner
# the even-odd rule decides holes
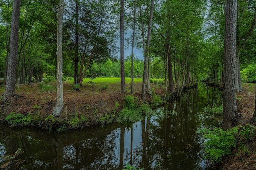
[[[78,73],[78,1],[76,1],[76,25],[75,25],[75,29],[76,29],[76,42],[75,42],[75,63],[74,63],[74,84],[77,84],[77,73]],[[81,67],[83,67],[83,65],[81,65]]]

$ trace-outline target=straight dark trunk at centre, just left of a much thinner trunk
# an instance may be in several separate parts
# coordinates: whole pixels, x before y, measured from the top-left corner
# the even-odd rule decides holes
[[[124,0],[121,0],[120,11],[120,64],[121,64],[121,93],[125,93],[125,74],[124,74]]]

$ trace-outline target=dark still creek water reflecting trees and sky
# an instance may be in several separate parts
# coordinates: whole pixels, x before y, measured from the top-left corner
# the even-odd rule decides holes
[[[24,150],[27,170],[118,170],[129,163],[146,170],[158,164],[168,170],[207,169],[202,158],[202,128],[220,122],[202,114],[207,104],[221,102],[214,88],[191,90],[180,101],[156,110],[134,124],[111,124],[66,133],[10,129],[0,125],[0,162],[4,155]]]

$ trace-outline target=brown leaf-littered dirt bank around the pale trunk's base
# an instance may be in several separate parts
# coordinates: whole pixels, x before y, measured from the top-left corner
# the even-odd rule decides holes
[[[56,86],[56,82],[50,82]],[[151,83],[154,93],[162,96],[164,94],[164,85]],[[134,84],[134,96],[140,100],[142,83]],[[94,90],[95,88],[95,90]],[[120,93],[119,85],[108,86],[107,90],[99,91],[98,86],[93,88],[92,84],[86,84],[80,87],[80,91],[73,90],[73,84],[63,83],[64,108],[60,117],[56,117],[54,122],[50,122],[47,117],[52,114],[52,108],[56,105],[56,93],[42,93],[39,84],[20,84],[16,88],[16,96],[7,104],[0,107],[0,121],[4,121],[6,115],[16,112],[22,115],[36,115],[35,126],[42,129],[57,129],[61,124],[72,121],[77,117],[86,119],[80,122],[77,127],[85,127],[99,124],[99,118],[106,113],[117,113],[122,109],[122,103],[126,95],[130,94],[130,84],[126,84],[126,94]],[[146,94],[146,101],[152,101],[152,97]],[[47,119],[47,121],[46,121]],[[55,121],[56,120],[56,121]],[[47,125],[48,124],[48,125]],[[52,124],[52,125],[50,125]],[[72,127],[70,127],[72,128]]]

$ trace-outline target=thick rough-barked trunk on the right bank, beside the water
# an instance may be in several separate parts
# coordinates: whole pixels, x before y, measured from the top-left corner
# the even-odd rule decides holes
[[[224,36],[224,89],[222,129],[232,127],[236,110],[236,9],[237,0],[226,0]]]

